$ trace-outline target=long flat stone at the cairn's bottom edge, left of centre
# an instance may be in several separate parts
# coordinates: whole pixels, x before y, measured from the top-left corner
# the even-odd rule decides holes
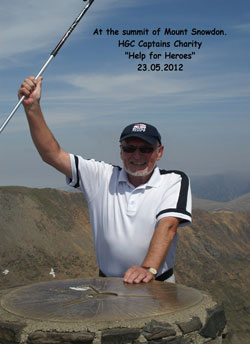
[[[44,332],[36,331],[29,335],[27,344],[92,344],[91,332]]]

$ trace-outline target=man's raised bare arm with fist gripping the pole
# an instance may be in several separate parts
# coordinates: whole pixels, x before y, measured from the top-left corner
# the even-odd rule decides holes
[[[37,80],[30,76],[24,80],[18,97],[25,96],[23,106],[28,119],[33,142],[43,161],[72,178],[70,157],[48,128],[40,107],[42,77]]]

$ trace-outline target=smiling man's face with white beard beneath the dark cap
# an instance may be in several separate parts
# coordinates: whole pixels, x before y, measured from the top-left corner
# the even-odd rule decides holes
[[[125,152],[122,147],[137,147],[134,152]],[[151,152],[142,152],[140,147],[153,148]],[[147,150],[147,149],[146,149]],[[151,174],[155,164],[160,160],[163,153],[163,146],[159,143],[150,144],[136,137],[128,138],[121,142],[121,159],[124,168],[130,176],[144,177]]]

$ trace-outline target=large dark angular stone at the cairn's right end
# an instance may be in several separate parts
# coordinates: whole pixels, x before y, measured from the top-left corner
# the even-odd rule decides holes
[[[226,326],[226,316],[223,306],[215,306],[207,309],[207,318],[205,325],[200,330],[200,335],[205,338],[215,339],[220,336]]]

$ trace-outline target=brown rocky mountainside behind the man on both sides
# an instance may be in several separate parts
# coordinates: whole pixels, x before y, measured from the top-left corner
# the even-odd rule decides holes
[[[238,207],[244,200],[249,205],[249,195],[232,202]],[[215,205],[204,202],[206,209]],[[250,343],[250,212],[196,209],[192,226],[178,233],[177,282],[224,304],[232,331],[228,343]],[[79,193],[0,187],[0,238],[0,289],[98,276],[87,205]]]

